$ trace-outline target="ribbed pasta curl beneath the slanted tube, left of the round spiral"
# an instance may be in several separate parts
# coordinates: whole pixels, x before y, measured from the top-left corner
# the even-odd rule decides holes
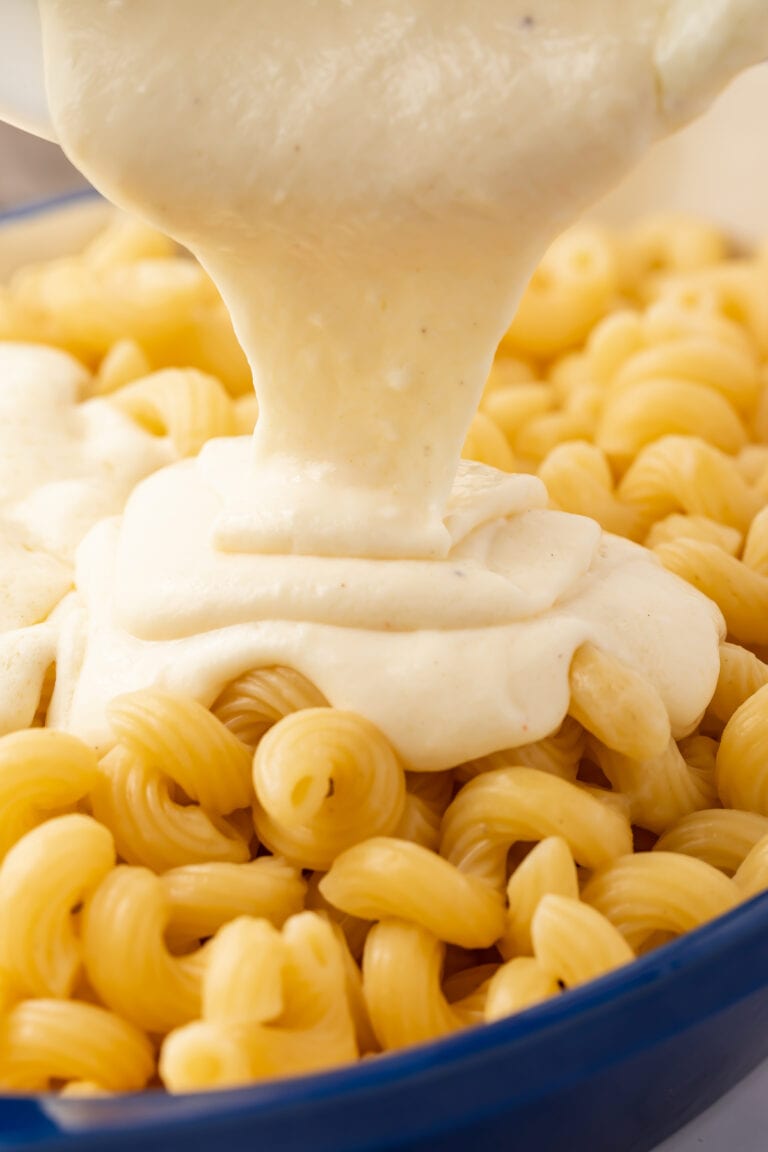
[[[165,872],[185,864],[250,858],[248,840],[233,824],[197,804],[178,803],[173,787],[173,780],[123,748],[114,748],[101,760],[93,813],[113,833],[123,861]]]

